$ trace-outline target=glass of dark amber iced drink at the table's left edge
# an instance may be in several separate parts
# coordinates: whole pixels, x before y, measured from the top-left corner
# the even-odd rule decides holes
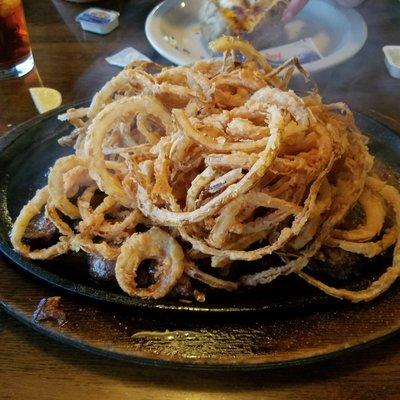
[[[34,62],[21,0],[0,0],[0,79],[27,74]]]

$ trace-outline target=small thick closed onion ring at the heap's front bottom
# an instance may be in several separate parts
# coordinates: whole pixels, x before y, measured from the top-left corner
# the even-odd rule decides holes
[[[156,283],[146,288],[135,282],[137,269],[144,260],[156,260]],[[185,255],[176,240],[160,228],[132,235],[122,246],[115,276],[130,296],[164,297],[176,285],[185,270]]]

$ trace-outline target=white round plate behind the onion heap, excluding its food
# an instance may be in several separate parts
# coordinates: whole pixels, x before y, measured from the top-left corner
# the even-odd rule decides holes
[[[146,36],[151,45],[171,62],[191,64],[210,53],[200,33],[199,9],[206,0],[165,0],[146,20]],[[323,58],[305,64],[313,72],[340,64],[364,45],[367,26],[353,9],[337,7],[327,0],[311,0],[296,18],[284,27],[285,37],[276,46],[312,38]]]

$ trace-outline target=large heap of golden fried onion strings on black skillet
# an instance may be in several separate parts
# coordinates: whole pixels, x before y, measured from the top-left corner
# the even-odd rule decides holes
[[[142,298],[204,301],[196,282],[235,291],[289,274],[352,302],[386,291],[400,273],[400,196],[349,108],[324,104],[315,87],[289,89],[294,68],[310,79],[296,59],[272,69],[233,37],[210,47],[224,57],[134,62],[88,108],[60,116],[74,126],[60,139],[74,154],[22,208],[15,250],[39,260],[85,252],[96,278]],[[339,276],[392,246],[392,264],[362,290],[305,269],[325,260]]]

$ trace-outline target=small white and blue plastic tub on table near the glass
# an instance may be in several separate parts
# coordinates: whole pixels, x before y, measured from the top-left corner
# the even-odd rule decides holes
[[[75,20],[85,31],[106,35],[118,26],[118,17],[116,11],[92,7],[80,13]]]

